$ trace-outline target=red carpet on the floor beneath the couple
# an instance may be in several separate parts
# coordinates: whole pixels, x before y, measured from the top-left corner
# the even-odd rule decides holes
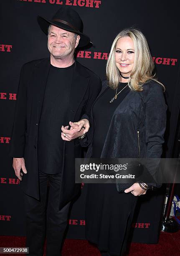
[[[0,236],[0,247],[23,247],[25,237]],[[12,254],[0,254],[12,255]],[[15,254],[24,256],[25,254]],[[46,255],[46,254],[45,254]],[[129,256],[180,256],[180,231],[161,233],[158,244],[132,243]],[[100,256],[99,250],[86,240],[66,239],[62,256]]]

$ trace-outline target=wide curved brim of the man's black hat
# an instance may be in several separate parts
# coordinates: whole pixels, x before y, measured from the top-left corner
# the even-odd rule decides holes
[[[91,44],[89,36],[86,36],[84,33],[81,33],[80,31],[76,31],[75,29],[69,27],[68,25],[66,25],[64,23],[57,22],[57,21],[47,20],[47,19],[45,19],[45,18],[43,18],[41,16],[38,16],[37,20],[38,20],[38,24],[39,24],[40,28],[42,29],[42,31],[46,35],[48,35],[48,27],[50,25],[53,25],[53,26],[56,26],[58,28],[62,28],[64,30],[66,30],[66,31],[69,31],[69,32],[72,32],[72,33],[76,33],[79,36],[81,36],[77,48],[82,48],[82,47],[85,47],[85,46]]]

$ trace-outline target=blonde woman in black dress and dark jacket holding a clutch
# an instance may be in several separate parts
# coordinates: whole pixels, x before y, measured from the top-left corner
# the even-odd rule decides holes
[[[114,39],[106,66],[107,80],[92,107],[93,141],[87,157],[160,158],[166,126],[164,86],[153,75],[145,36],[129,28]],[[137,196],[152,186],[89,184],[86,238],[101,255],[123,255]]]

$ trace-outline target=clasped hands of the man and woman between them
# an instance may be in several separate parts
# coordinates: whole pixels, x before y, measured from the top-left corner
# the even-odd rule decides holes
[[[61,138],[63,141],[72,141],[75,138],[81,137],[83,134],[89,131],[89,120],[81,119],[79,122],[69,122],[71,126],[70,130],[68,130],[69,126],[61,127]],[[83,128],[84,127],[84,128]]]

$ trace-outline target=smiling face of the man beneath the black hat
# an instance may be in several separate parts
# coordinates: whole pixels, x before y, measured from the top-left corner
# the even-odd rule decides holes
[[[51,25],[48,34],[48,50],[55,59],[73,58],[74,50],[79,44],[80,36]]]

